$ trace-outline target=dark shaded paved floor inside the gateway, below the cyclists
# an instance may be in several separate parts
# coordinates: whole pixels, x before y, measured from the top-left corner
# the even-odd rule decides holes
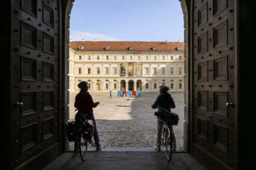
[[[163,152],[90,152],[85,162],[77,155],[62,169],[190,169],[180,156],[168,162]]]

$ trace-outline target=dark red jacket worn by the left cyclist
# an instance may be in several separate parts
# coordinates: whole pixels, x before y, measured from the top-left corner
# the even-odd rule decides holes
[[[80,91],[76,94],[75,108],[78,112],[93,116],[92,108],[96,108],[98,103],[94,103],[91,94],[86,91]]]

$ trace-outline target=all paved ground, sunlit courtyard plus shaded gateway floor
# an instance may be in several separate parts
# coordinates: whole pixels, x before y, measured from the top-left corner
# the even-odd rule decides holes
[[[74,98],[77,93],[70,93],[70,118],[75,117]],[[70,150],[56,158],[43,170],[53,169],[191,169],[205,170],[183,148],[184,94],[171,92],[176,108],[172,111],[179,115],[179,124],[174,126],[177,152],[171,162],[166,160],[164,148],[154,150],[156,140],[156,109],[151,109],[158,92],[145,92],[142,97],[112,98],[106,92],[92,92],[94,102],[100,102],[93,109],[100,135],[102,151],[95,147],[88,148],[87,159],[81,161],[70,142]]]

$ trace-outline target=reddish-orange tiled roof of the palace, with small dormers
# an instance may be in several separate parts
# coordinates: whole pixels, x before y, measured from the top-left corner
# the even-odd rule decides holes
[[[79,50],[79,46],[83,46],[83,50]],[[110,49],[106,50],[106,45]],[[129,46],[133,46],[133,50],[129,50]],[[152,47],[156,46],[156,50]],[[181,50],[177,50],[178,46]],[[184,52],[184,42],[148,42],[148,41],[71,41],[69,46],[75,51],[181,51]]]

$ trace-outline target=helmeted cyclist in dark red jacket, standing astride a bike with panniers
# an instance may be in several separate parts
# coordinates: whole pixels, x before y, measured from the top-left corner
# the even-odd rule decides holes
[[[77,86],[81,89],[78,94],[76,94],[75,98],[75,108],[77,108],[79,113],[87,114],[87,119],[91,119],[94,124],[94,132],[93,132],[93,138],[95,140],[96,150],[101,150],[101,144],[100,144],[100,138],[98,137],[98,131],[96,127],[96,121],[93,116],[93,109],[96,108],[100,102],[94,103],[92,100],[92,96],[90,93],[88,93],[88,86],[86,81],[82,81]],[[75,144],[75,149],[77,147],[77,144]]]

